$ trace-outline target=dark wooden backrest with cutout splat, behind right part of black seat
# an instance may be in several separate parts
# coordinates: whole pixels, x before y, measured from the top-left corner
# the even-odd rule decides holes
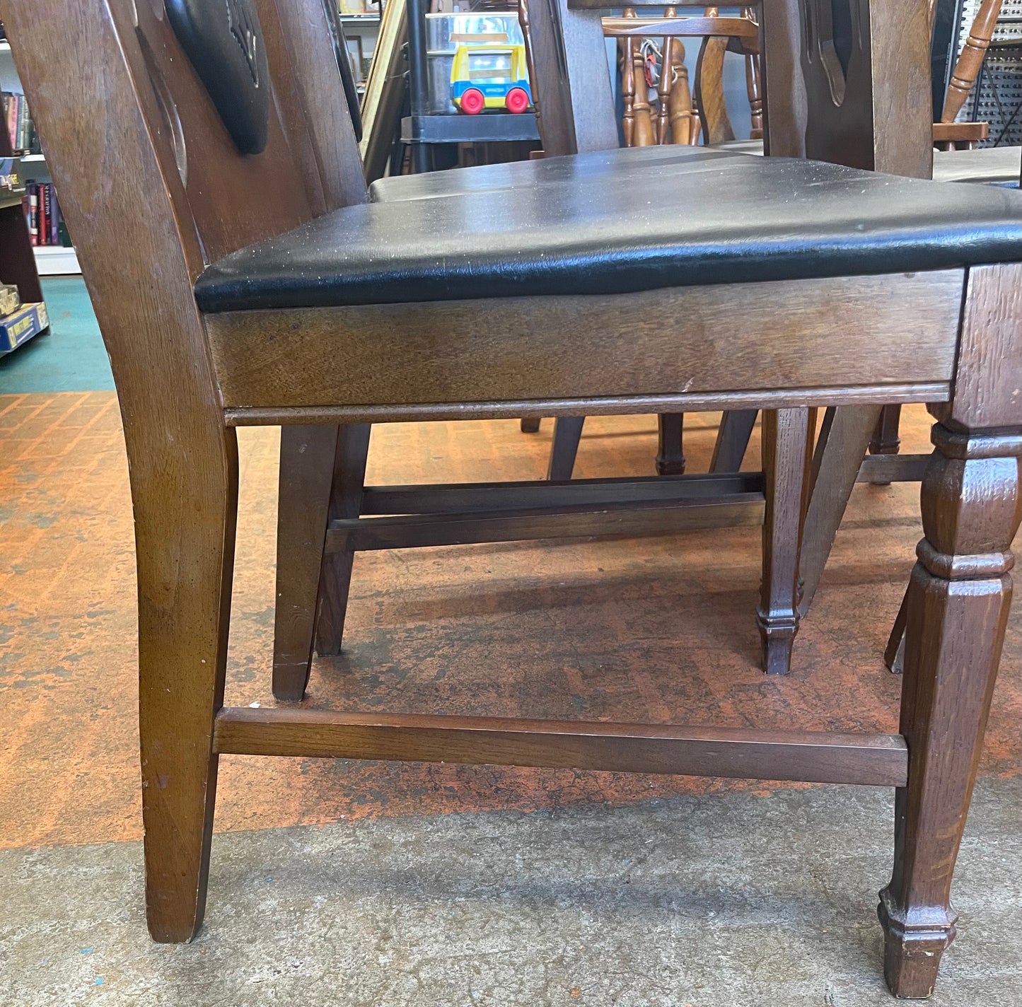
[[[769,153],[932,175],[931,0],[761,0],[761,10]]]

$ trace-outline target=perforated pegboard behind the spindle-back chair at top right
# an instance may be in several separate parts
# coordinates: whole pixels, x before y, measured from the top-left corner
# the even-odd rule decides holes
[[[980,2],[962,0],[956,56],[962,51]],[[980,146],[1022,144],[1022,0],[1004,0],[983,70],[958,121],[990,124],[990,138]]]

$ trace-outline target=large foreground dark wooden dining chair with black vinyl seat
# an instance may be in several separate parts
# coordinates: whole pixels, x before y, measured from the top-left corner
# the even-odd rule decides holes
[[[888,0],[869,6],[883,27]],[[897,995],[926,996],[955,933],[951,872],[1011,594],[1022,196],[645,148],[482,168],[457,198],[366,203],[320,0],[0,0],[0,13],[124,420],[152,936],[188,941],[201,924],[225,753],[804,779],[896,788],[885,969]],[[883,32],[872,43],[892,56]],[[769,56],[765,79],[770,121]],[[892,82],[866,79],[871,107]],[[860,80],[847,132],[863,96]],[[843,142],[818,132],[818,110],[806,142]],[[919,125],[910,103],[902,129]],[[642,198],[621,184],[638,177]],[[668,208],[668,193],[650,230],[646,199]],[[556,340],[541,324],[552,314]],[[810,407],[898,400],[930,402],[936,423],[897,734],[224,705],[239,425],[757,406],[766,471],[798,487]],[[594,520],[617,485],[584,488],[601,497]],[[539,486],[523,492],[549,500]],[[456,540],[458,495],[491,491],[374,493],[398,519],[331,520],[321,552],[386,547],[412,527],[429,530],[419,544]],[[711,496],[675,509],[716,520]],[[558,513],[544,519],[563,525]],[[794,597],[794,569],[768,573]]]

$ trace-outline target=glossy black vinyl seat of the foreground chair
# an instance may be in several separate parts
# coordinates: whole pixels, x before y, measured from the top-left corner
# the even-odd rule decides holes
[[[915,272],[1022,260],[1022,193],[643,147],[462,169],[213,263],[204,312]],[[436,188],[439,187],[439,190]],[[427,190],[430,190],[427,194]]]

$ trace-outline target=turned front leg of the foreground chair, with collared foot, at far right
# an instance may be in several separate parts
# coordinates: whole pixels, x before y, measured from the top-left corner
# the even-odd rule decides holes
[[[1012,455],[1022,428],[960,433],[938,424],[933,442],[925,538],[907,602],[900,731],[909,781],[895,798],[894,868],[878,910],[884,972],[898,997],[930,995],[955,936],[951,872],[1004,643],[1019,524]]]

